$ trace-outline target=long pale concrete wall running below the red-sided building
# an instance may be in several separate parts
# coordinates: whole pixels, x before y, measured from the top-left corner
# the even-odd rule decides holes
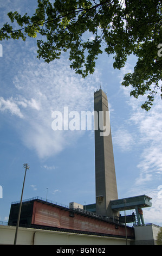
[[[16,227],[0,225],[0,245],[13,245]],[[128,245],[129,245],[128,240]],[[18,228],[17,245],[126,245],[125,239]]]

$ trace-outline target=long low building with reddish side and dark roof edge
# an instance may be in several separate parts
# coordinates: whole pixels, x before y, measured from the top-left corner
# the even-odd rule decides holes
[[[67,208],[39,197],[25,200],[22,203],[20,225],[24,228],[109,237],[116,241],[125,241],[125,225],[109,217],[86,211],[82,205],[79,205],[81,208],[76,205],[70,203],[70,207]],[[20,202],[11,204],[9,226],[16,225],[19,207]],[[134,228],[127,227],[127,239],[134,240]]]

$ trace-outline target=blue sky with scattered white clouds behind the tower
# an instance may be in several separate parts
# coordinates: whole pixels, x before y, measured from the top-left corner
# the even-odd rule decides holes
[[[1,0],[1,27],[9,22],[9,11],[32,14],[36,3]],[[36,39],[0,43],[0,222],[8,221],[11,202],[21,198],[24,163],[30,169],[23,199],[95,203],[94,130],[54,131],[51,114],[63,113],[64,107],[92,112],[101,86],[108,97],[118,197],[151,197],[144,221],[162,226],[162,105],[159,93],[146,112],[140,107],[146,96],[134,99],[131,88],[121,86],[124,75],[133,72],[135,57],[114,70],[113,56],[103,52],[94,74],[83,79],[69,68],[68,53],[49,64],[39,60]]]

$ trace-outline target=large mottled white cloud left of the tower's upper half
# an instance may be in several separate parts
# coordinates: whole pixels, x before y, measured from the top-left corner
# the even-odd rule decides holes
[[[22,142],[41,158],[60,153],[83,134],[53,131],[51,113],[63,112],[64,106],[69,112],[92,111],[93,92],[99,84],[97,71],[83,80],[69,69],[64,57],[49,64],[25,59],[25,68],[22,66],[13,79],[14,94],[0,101],[1,111],[8,110],[21,118],[15,125]]]

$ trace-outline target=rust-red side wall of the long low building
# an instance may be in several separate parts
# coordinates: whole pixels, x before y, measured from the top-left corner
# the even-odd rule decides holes
[[[112,223],[80,214],[69,217],[69,214],[69,211],[35,201],[31,224],[125,236],[125,226],[119,225],[116,229],[115,224]],[[134,229],[128,227],[127,236],[134,237]]]

